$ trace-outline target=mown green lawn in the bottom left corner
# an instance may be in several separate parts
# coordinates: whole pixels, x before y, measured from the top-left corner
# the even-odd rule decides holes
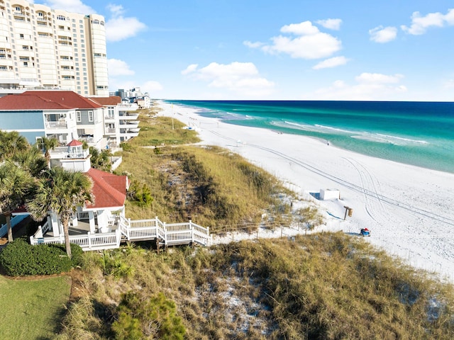
[[[10,280],[0,276],[0,339],[49,339],[70,297],[70,276]]]

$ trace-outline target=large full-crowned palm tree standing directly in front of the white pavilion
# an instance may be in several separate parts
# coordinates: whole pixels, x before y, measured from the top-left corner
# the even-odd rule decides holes
[[[35,196],[27,203],[27,210],[33,220],[43,220],[48,212],[57,214],[63,225],[66,253],[70,258],[70,220],[77,206],[82,206],[87,201],[94,202],[92,186],[92,179],[82,172],[67,171],[60,167],[51,168],[38,180]]]

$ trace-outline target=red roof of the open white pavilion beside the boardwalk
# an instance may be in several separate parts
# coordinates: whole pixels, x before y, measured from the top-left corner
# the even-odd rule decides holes
[[[124,205],[128,176],[117,176],[93,168],[89,169],[87,174],[93,180],[94,195],[94,204],[87,205],[87,208],[113,208]]]

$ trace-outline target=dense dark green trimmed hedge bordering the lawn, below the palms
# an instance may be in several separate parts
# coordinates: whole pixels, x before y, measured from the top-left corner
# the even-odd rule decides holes
[[[65,245],[38,244],[32,246],[16,239],[0,254],[0,265],[9,276],[50,275],[70,271],[82,261],[82,249],[71,244],[73,258],[66,255]]]

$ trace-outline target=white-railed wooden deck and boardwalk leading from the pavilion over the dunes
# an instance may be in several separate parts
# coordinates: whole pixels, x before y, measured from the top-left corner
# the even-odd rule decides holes
[[[49,232],[46,222],[30,237],[31,244],[63,244],[63,235],[55,237]],[[86,231],[87,230],[87,231]],[[43,237],[39,237],[40,234]],[[38,236],[39,235],[39,236]],[[118,248],[123,241],[156,240],[164,246],[181,244],[211,245],[211,236],[208,227],[201,227],[192,221],[184,223],[166,224],[157,217],[150,220],[133,220],[121,216],[118,225],[113,225],[111,232],[90,233],[87,223],[79,221],[77,227],[70,227],[70,242],[78,244],[84,251]]]

